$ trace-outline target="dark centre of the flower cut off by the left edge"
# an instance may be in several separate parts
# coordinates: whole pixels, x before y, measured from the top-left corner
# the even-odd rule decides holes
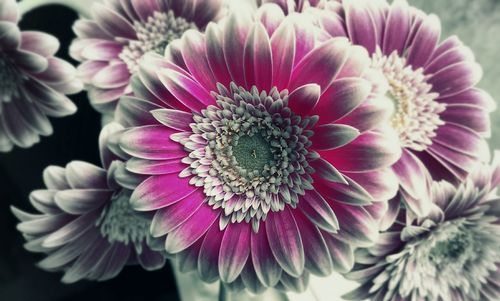
[[[14,60],[0,50],[0,104],[19,96],[19,86],[23,81],[24,77]]]

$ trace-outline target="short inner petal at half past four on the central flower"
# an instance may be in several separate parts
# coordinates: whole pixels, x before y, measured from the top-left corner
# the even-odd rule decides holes
[[[335,213],[316,190],[307,190],[300,200],[298,208],[319,228],[332,233],[339,229]]]

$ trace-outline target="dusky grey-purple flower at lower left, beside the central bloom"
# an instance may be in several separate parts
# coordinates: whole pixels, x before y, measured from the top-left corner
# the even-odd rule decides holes
[[[81,161],[65,168],[49,166],[43,173],[47,189],[30,195],[40,213],[12,208],[21,221],[18,229],[27,240],[26,249],[47,254],[38,266],[63,271],[65,283],[108,280],[127,264],[154,270],[165,263],[163,254],[148,246],[151,219],[130,207],[131,191],[115,180],[123,162],[115,160],[107,144],[108,137],[120,130],[116,127],[102,130],[102,168]]]

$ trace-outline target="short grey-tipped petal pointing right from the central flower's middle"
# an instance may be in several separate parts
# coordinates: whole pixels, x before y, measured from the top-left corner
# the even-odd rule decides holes
[[[325,124],[314,128],[311,137],[316,150],[332,150],[351,143],[359,136],[359,131],[349,125]]]

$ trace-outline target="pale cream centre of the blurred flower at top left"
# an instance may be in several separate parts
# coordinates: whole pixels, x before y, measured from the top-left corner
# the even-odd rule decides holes
[[[128,42],[119,57],[127,64],[131,73],[135,73],[141,57],[149,51],[163,55],[167,45],[182,36],[189,29],[198,29],[196,24],[182,17],[176,17],[172,10],[154,12],[146,22],[134,23],[137,40]]]

